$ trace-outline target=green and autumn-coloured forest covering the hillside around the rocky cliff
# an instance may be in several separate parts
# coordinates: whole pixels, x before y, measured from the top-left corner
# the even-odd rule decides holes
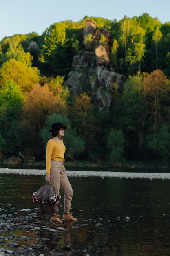
[[[108,69],[126,76],[113,84],[106,114],[90,86],[71,95],[64,85],[79,50],[94,51],[85,21],[110,34]],[[99,33],[102,45],[105,38]],[[102,86],[102,85],[100,85]],[[126,160],[170,157],[170,22],[147,13],[122,20],[84,17],[47,28],[42,35],[15,34],[0,41],[0,162],[19,153],[45,159],[51,124],[68,126],[66,159]]]

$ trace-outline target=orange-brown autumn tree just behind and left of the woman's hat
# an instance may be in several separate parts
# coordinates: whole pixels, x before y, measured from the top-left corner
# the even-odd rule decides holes
[[[66,104],[59,95],[54,95],[49,91],[47,84],[35,85],[25,96],[20,122],[21,144],[27,152],[35,150],[38,153],[42,146],[37,136],[38,132],[44,127],[45,120],[51,113],[66,115]]]

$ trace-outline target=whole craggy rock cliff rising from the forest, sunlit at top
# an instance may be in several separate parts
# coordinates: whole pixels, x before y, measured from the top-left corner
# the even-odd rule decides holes
[[[90,43],[87,45],[84,39],[89,34]],[[124,75],[119,74],[115,69],[107,67],[110,40],[111,36],[107,29],[99,29],[94,21],[86,20],[86,26],[82,31],[82,50],[73,57],[73,70],[68,73],[65,82],[71,95],[84,92],[88,88],[95,94],[95,102],[99,110],[105,113],[110,107],[113,87],[121,89],[125,79]],[[87,49],[88,46],[91,50]]]

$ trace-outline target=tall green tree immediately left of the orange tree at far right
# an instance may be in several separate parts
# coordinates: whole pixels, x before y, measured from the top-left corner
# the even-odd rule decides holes
[[[147,115],[146,92],[144,78],[146,74],[138,73],[129,76],[124,84],[121,97],[121,126],[127,137],[134,141],[138,148],[143,146],[144,125]]]

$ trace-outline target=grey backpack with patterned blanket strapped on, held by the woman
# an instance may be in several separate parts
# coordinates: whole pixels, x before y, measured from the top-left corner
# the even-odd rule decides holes
[[[60,199],[61,196],[56,195],[55,189],[51,185],[40,187],[40,189],[32,195],[32,201],[38,204],[38,211],[42,214],[53,214],[59,211],[61,215]],[[40,218],[42,219],[41,216]]]

